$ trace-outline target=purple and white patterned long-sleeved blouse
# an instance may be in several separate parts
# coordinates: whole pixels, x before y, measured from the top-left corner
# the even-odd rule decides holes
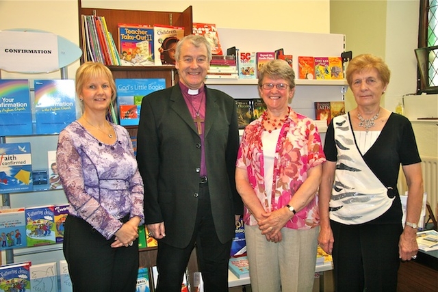
[[[60,133],[56,152],[69,213],[86,220],[106,239],[120,229],[126,215],[144,222],[143,181],[129,133],[112,127],[117,139],[109,145],[75,121]]]

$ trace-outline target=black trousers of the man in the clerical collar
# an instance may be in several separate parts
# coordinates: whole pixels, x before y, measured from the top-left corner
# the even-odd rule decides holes
[[[157,292],[181,292],[181,283],[190,254],[196,244],[199,269],[203,276],[205,292],[228,291],[228,260],[231,240],[220,243],[211,215],[207,184],[199,185],[198,211],[192,241],[187,248],[175,248],[158,243]]]

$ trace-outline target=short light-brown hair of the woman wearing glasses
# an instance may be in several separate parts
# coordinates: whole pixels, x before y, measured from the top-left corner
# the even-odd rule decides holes
[[[295,72],[289,64],[283,59],[274,59],[259,69],[259,87],[263,84],[263,79],[269,77],[272,79],[285,79],[290,88],[295,87]]]

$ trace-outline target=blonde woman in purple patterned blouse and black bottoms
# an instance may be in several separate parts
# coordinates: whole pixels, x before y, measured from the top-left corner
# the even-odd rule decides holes
[[[107,122],[116,96],[111,71],[86,62],[76,72],[82,116],[57,144],[56,160],[69,213],[64,256],[73,291],[136,291],[143,183],[129,133]]]

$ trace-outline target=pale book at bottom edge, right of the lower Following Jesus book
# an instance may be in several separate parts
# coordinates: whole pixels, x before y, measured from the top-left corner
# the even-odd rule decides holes
[[[57,292],[56,263],[30,266],[31,292]]]

